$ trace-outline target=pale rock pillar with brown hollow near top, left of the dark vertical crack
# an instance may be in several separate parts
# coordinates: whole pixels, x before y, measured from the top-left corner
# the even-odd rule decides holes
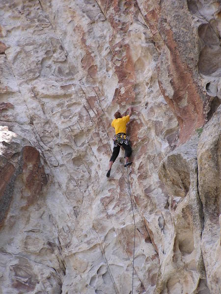
[[[156,293],[194,293],[200,279],[206,277],[200,245],[203,213],[198,194],[197,143],[195,136],[169,153],[160,164],[159,177],[169,194],[174,231]],[[181,275],[184,280],[179,278]]]

